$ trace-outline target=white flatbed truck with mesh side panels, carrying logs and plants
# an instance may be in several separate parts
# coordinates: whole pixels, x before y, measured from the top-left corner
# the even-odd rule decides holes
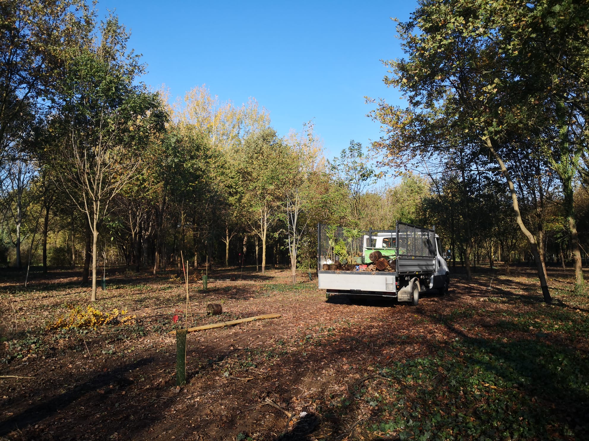
[[[399,302],[417,305],[419,295],[428,289],[448,292],[448,265],[435,229],[396,222],[395,230],[371,229],[363,234],[355,232],[351,237],[346,237],[346,230],[349,234],[350,229],[322,224],[317,229],[317,276],[319,289],[325,289],[327,299],[333,294],[344,294],[350,298],[396,298]],[[339,256],[333,252],[336,241],[355,250],[355,255],[347,258],[353,261],[346,262],[355,270],[324,269],[326,265],[333,267],[334,260],[338,260]],[[370,271],[363,268],[369,263],[368,256],[373,250],[379,250],[383,257],[394,261],[393,269]]]

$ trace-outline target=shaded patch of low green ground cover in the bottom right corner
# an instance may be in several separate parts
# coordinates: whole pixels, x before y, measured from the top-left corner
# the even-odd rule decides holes
[[[378,414],[372,432],[402,440],[575,439],[589,430],[588,361],[530,340],[466,339],[380,369],[388,387],[356,397]]]

